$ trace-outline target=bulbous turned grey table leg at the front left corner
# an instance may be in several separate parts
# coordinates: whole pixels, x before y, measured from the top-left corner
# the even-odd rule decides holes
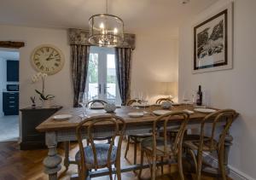
[[[45,142],[49,148],[44,158],[44,173],[49,175],[49,180],[57,180],[57,172],[61,170],[61,156],[57,154],[57,137],[55,131],[45,133]]]

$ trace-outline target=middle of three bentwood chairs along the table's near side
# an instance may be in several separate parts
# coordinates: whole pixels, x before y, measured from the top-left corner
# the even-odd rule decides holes
[[[172,117],[179,117],[181,124],[177,131],[177,136],[174,141],[171,141],[167,136],[167,128],[170,122],[172,122]],[[180,179],[184,179],[183,176],[183,165],[182,165],[182,155],[183,155],[183,135],[186,130],[186,125],[189,121],[189,113],[182,111],[176,111],[171,113],[166,113],[159,118],[154,120],[153,123],[153,133],[151,137],[143,139],[142,144],[142,154],[141,154],[141,168],[139,172],[139,177],[142,175],[143,167],[143,156],[146,154],[148,159],[148,164],[150,165],[151,179],[155,179],[156,170],[156,160],[161,159],[172,159],[177,160],[178,171]],[[164,130],[163,136],[159,135],[159,128],[162,127]]]

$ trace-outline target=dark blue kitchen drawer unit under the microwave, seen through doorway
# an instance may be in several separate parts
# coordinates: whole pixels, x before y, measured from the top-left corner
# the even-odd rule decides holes
[[[4,115],[19,114],[19,92],[3,92]]]

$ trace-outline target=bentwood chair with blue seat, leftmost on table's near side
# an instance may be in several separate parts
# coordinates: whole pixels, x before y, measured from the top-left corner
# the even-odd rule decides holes
[[[101,124],[108,123],[105,127]],[[100,136],[102,128],[108,128],[111,133],[111,142],[94,143],[95,136]],[[87,138],[90,139],[90,146],[83,144],[83,136],[86,132]],[[76,128],[76,136],[79,142],[79,152],[75,155],[78,163],[79,179],[85,179],[89,176],[90,170],[108,168],[108,175],[112,177],[112,165],[116,168],[118,179],[121,179],[120,171],[120,154],[121,144],[125,132],[125,120],[115,115],[99,115],[84,119]],[[114,145],[115,139],[119,136],[117,146]]]

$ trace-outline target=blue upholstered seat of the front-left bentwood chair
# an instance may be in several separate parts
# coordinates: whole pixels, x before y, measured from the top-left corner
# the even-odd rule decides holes
[[[105,166],[107,165],[108,162],[108,149],[110,148],[110,144],[102,144],[98,143],[95,144],[96,148],[96,160],[97,160],[97,165],[98,166]],[[116,155],[117,155],[117,147],[113,146],[111,156],[110,156],[110,164],[113,164],[114,161],[116,160]],[[91,146],[86,146],[84,147],[84,158],[85,158],[85,165],[89,168],[93,168],[95,165],[94,162],[94,155],[93,155],[93,150]],[[75,155],[75,160],[77,162],[80,162],[80,152],[78,152]]]

